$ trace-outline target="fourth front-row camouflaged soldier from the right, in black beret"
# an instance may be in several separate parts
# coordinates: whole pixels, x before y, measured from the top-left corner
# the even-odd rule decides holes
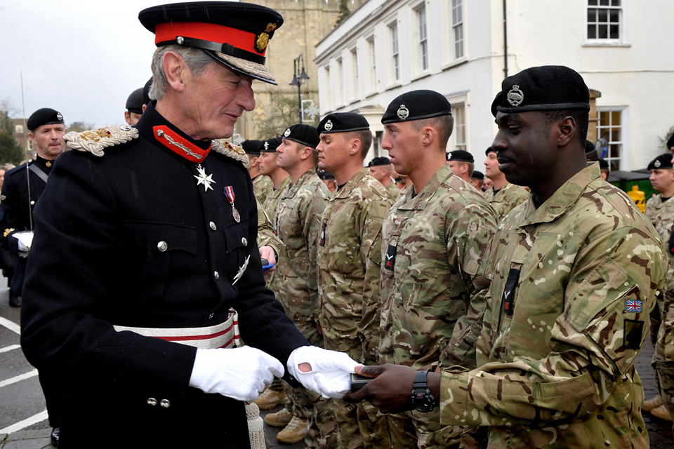
[[[277,165],[289,173],[291,183],[281,193],[274,228],[285,245],[277,269],[282,279],[281,302],[311,344],[323,347],[318,324],[316,250],[321,216],[331,195],[315,171],[318,142],[318,133],[312,126],[293,125],[283,133],[283,142],[277,148]],[[293,389],[291,397],[295,417],[288,424],[291,429],[287,433],[299,434],[298,419],[304,419],[308,425],[305,443],[310,448],[333,447],[335,441],[328,443],[324,439],[334,435],[333,429],[323,428],[333,424],[329,401],[301,387]]]

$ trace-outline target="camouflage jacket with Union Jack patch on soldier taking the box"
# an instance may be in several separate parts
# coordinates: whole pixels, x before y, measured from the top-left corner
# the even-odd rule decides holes
[[[661,242],[629,197],[581,170],[494,237],[479,368],[442,373],[442,422],[488,448],[648,448],[633,366],[663,285]]]

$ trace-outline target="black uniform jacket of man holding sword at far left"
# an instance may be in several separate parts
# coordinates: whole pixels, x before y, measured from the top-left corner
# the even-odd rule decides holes
[[[49,175],[51,167],[48,167],[47,163],[52,162],[37,156],[37,159],[31,161],[30,165],[36,164],[39,170]],[[30,174],[30,200],[28,199],[28,173]],[[32,206],[29,203],[30,201],[37,203],[46,185],[47,183],[39,175],[27,170],[25,163],[5,173],[5,181],[2,185],[4,198],[0,206],[0,229],[3,233],[1,246],[15,258],[19,255],[18,240],[13,238],[12,234],[30,229],[29,209]],[[13,231],[8,232],[8,229],[13,229]],[[6,232],[7,234],[4,235]],[[21,296],[25,269],[26,258],[18,257],[10,283],[12,292],[17,296]]]

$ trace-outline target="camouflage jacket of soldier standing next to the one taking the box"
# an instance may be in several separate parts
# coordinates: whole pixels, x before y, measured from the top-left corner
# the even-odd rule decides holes
[[[447,164],[413,192],[383,224],[381,363],[474,367],[496,217]]]

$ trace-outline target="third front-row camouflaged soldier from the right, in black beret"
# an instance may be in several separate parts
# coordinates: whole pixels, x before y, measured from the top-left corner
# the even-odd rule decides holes
[[[317,129],[319,168],[332,173],[342,186],[321,220],[317,260],[323,341],[326,348],[373,365],[379,358],[381,223],[393,198],[363,168],[372,143],[363,116],[329,114]],[[378,416],[377,408],[340,400],[333,405],[339,448],[390,447],[386,417]]]

